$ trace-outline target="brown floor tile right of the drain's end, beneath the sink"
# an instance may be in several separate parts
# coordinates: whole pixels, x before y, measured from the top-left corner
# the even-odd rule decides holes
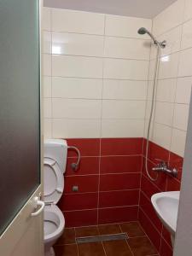
[[[147,236],[129,238],[128,243],[134,256],[158,254],[154,246],[148,240]]]

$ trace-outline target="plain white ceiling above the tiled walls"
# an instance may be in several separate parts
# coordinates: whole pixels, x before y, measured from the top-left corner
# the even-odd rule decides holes
[[[177,0],[44,0],[44,6],[102,14],[154,18]]]

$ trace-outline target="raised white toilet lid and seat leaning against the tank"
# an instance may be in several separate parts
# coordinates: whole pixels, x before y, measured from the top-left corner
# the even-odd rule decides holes
[[[63,189],[64,177],[59,165],[51,158],[44,158],[44,201],[56,204]]]

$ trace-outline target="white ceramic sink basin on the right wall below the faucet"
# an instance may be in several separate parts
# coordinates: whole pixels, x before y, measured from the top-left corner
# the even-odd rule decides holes
[[[171,233],[172,240],[174,239],[177,227],[179,195],[179,191],[171,191],[157,193],[151,197],[154,210],[162,224],[164,224],[166,229]]]

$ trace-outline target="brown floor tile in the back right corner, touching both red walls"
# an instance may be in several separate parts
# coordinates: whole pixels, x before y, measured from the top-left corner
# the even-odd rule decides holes
[[[119,225],[121,230],[126,232],[129,237],[146,236],[138,222],[128,222]]]

